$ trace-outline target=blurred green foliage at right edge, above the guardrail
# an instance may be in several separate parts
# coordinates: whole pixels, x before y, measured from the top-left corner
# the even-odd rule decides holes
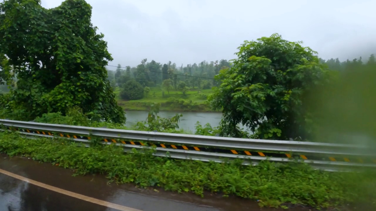
[[[353,63],[311,96],[320,142],[376,143],[376,63]],[[376,153],[376,152],[375,152]]]

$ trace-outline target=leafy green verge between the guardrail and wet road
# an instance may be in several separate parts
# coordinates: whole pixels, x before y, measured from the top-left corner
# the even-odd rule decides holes
[[[173,160],[155,157],[152,151],[124,154],[115,145],[77,146],[67,140],[30,140],[15,133],[0,133],[2,153],[58,164],[75,169],[77,174],[104,174],[112,181],[132,182],[141,187],[192,191],[200,196],[210,191],[258,200],[261,206],[285,208],[290,204],[340,207],[376,197],[369,185],[376,184],[371,174],[321,172],[303,164],[277,165],[268,161],[242,166],[238,161]]]

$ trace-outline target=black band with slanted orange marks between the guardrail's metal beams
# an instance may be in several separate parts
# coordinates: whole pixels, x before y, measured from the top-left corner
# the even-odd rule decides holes
[[[50,136],[60,136],[60,137],[67,137],[73,139],[84,139],[90,140],[91,137],[89,136],[76,136],[70,134],[63,134],[58,133],[54,134],[51,132],[45,131],[37,131],[37,130],[28,130],[28,129],[21,129],[21,128],[8,128],[12,131],[23,131],[27,133],[37,133],[37,134],[44,134]],[[130,141],[130,140],[115,140],[115,139],[102,139],[103,142],[111,142],[111,143],[123,143],[129,145],[140,145],[140,146],[156,146],[161,148],[168,148],[168,149],[183,149],[183,150],[194,150],[194,151],[203,151],[203,152],[217,152],[217,153],[224,153],[224,154],[236,154],[236,155],[248,155],[248,156],[260,156],[260,157],[278,157],[278,158],[300,158],[303,160],[323,160],[323,161],[344,161],[344,162],[353,162],[353,163],[376,163],[376,160],[365,160],[362,158],[348,158],[348,157],[319,157],[315,155],[298,155],[298,154],[287,154],[287,153],[276,153],[276,152],[261,152],[261,151],[247,151],[247,150],[240,150],[240,149],[220,149],[220,148],[208,148],[208,147],[201,147],[201,146],[185,146],[185,145],[172,145],[172,144],[164,144],[164,143],[144,143],[140,141]]]

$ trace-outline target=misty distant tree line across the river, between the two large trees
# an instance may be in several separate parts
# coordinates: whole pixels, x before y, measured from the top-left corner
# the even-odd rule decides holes
[[[210,89],[217,86],[218,81],[214,76],[221,69],[229,68],[230,62],[222,59],[215,62],[206,62],[181,65],[169,61],[162,64],[147,59],[141,60],[136,67],[122,67],[118,64],[115,71],[108,70],[108,80],[112,87],[120,87],[120,97],[122,99],[141,99],[144,93],[150,92],[149,87],[159,86],[166,92],[170,90],[180,90],[183,95],[189,89]]]

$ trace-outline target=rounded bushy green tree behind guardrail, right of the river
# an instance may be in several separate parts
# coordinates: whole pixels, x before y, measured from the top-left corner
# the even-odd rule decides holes
[[[223,108],[223,135],[239,136],[242,123],[260,138],[309,137],[312,114],[308,96],[328,71],[316,52],[278,34],[245,41],[231,68],[222,69],[220,87],[211,96]]]

